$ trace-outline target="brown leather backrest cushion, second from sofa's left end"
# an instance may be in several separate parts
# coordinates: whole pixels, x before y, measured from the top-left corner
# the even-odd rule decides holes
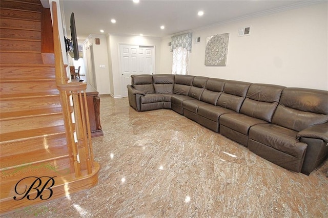
[[[153,83],[155,93],[173,93],[174,75],[173,74],[154,74]]]

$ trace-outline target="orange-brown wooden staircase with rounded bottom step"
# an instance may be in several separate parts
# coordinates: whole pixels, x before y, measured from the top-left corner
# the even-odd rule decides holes
[[[74,156],[81,145],[70,142],[54,52],[42,51],[44,11],[50,14],[35,0],[0,1],[1,214],[90,188],[98,179],[96,162],[88,170]]]

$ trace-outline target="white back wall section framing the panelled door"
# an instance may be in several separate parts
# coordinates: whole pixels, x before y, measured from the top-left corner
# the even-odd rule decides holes
[[[116,97],[121,97],[121,73],[119,66],[119,44],[130,44],[140,46],[154,46],[155,49],[155,74],[160,72],[160,50],[161,50],[161,39],[152,38],[145,36],[117,36],[109,35],[107,41],[110,43],[109,53],[112,64],[112,81],[113,87],[111,88],[111,94]]]

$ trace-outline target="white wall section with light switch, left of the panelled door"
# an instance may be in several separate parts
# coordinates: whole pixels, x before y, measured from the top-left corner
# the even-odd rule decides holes
[[[100,39],[100,45],[95,44],[95,38]],[[107,52],[107,40],[105,35],[91,34],[88,39],[84,42],[83,47],[86,48],[92,44],[93,47],[93,59],[95,66],[95,79],[96,79],[96,90],[99,94],[110,94],[110,74],[109,74],[109,63],[108,63],[108,52]],[[86,57],[84,57],[86,59]],[[85,62],[86,63],[86,62]],[[100,68],[105,66],[105,68]],[[88,82],[88,68],[85,68]]]

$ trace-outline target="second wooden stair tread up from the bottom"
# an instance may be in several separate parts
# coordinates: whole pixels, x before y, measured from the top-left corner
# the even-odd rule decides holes
[[[68,157],[67,145],[25,152],[22,155],[0,157],[0,171],[11,169],[12,167],[22,167],[26,164],[36,164],[65,157]]]

